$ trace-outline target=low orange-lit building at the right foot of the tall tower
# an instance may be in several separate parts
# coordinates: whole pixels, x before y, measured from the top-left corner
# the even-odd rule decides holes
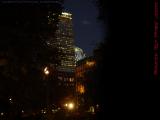
[[[86,57],[76,64],[76,94],[77,102],[80,105],[89,105],[93,101],[91,96],[94,89],[93,71],[95,66],[96,61],[93,57]]]

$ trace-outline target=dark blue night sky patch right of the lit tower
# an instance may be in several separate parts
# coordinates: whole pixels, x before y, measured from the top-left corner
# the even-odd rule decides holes
[[[92,55],[96,44],[103,40],[96,5],[91,0],[65,0],[64,7],[72,13],[76,46],[82,48],[86,55]]]

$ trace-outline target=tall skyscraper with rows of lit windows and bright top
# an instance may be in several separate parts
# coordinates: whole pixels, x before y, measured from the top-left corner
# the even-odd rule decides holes
[[[73,72],[75,69],[75,51],[72,28],[72,14],[62,12],[59,15],[58,29],[55,32],[55,39],[52,43],[63,54],[60,54],[61,63],[58,65],[59,71]]]

